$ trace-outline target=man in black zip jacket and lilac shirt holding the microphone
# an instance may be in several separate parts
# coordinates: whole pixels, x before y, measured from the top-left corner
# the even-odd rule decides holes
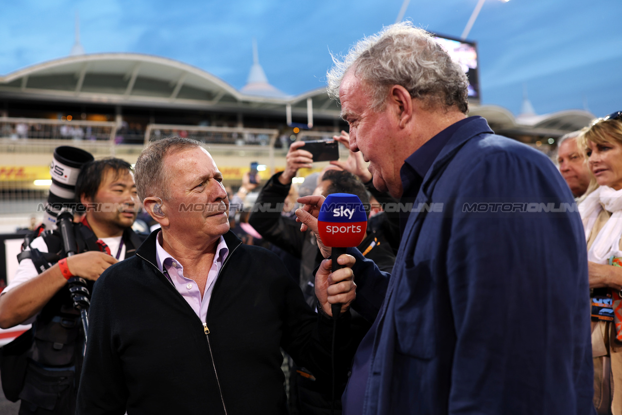
[[[199,142],[156,141],[135,169],[162,230],[95,285],[77,413],[285,414],[280,348],[330,381],[332,303],[343,304],[341,381],[351,360],[350,268],[331,274],[322,263],[315,314],[275,254],[229,231],[222,175]]]

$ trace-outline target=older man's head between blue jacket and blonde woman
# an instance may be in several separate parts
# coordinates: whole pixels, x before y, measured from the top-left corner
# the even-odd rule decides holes
[[[577,137],[581,131],[573,131],[565,134],[557,141],[557,164],[559,172],[570,187],[574,197],[582,197],[590,185],[590,169],[587,167],[585,157],[577,147]]]

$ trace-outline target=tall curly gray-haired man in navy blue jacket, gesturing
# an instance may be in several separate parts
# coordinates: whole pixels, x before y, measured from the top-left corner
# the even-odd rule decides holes
[[[402,203],[390,278],[348,248],[352,307],[374,324],[343,413],[592,413],[582,223],[538,208],[573,203],[555,166],[467,118],[465,74],[408,22],[337,60],[328,92],[374,186]],[[317,230],[323,198],[299,202],[302,228]]]

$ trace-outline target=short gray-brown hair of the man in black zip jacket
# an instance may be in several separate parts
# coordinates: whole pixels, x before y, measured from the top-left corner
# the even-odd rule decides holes
[[[201,143],[179,137],[154,141],[141,152],[134,166],[134,182],[141,202],[149,196],[170,198],[169,174],[164,169],[164,159],[175,152],[201,147]]]

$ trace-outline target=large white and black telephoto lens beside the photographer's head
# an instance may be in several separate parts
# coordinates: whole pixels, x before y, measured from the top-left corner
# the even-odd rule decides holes
[[[54,150],[50,165],[52,185],[50,185],[43,220],[46,230],[56,229],[58,213],[61,210],[67,208],[75,210],[77,206],[75,185],[80,174],[80,167],[93,159],[90,152],[76,147],[60,146]]]

